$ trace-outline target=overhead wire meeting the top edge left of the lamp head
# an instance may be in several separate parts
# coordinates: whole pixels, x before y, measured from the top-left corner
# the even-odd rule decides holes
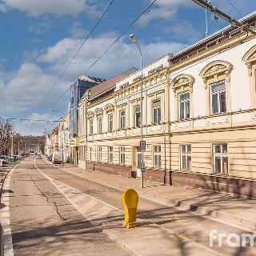
[[[55,86],[57,86],[58,82],[60,81],[60,79],[62,78],[63,74],[65,74],[66,70],[69,68],[70,64],[74,61],[74,58],[77,57],[78,53],[80,52],[80,50],[82,49],[82,46],[84,46],[84,44],[86,43],[86,41],[90,38],[90,35],[94,32],[95,28],[98,26],[99,22],[102,21],[102,18],[104,18],[106,12],[110,9],[110,6],[112,6],[112,4],[114,3],[114,0],[111,0],[110,4],[106,7],[106,10],[104,10],[104,12],[102,13],[102,16],[98,19],[98,22],[95,23],[94,27],[90,30],[90,33],[87,35],[86,39],[82,42],[81,46],[78,47],[78,50],[74,53],[74,56],[70,59],[70,61],[67,63],[66,67],[64,68],[64,70],[62,70],[62,73],[59,74],[56,82],[54,82],[54,85],[51,86],[50,90],[46,93],[45,97],[42,99],[42,101],[38,104],[38,106],[40,106],[42,104],[42,102],[45,101],[45,99],[47,98],[47,96],[49,96],[50,92],[54,89]]]

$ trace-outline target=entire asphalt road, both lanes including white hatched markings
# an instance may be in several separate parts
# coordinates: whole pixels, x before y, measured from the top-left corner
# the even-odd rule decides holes
[[[34,162],[34,158],[20,163],[10,181],[14,255],[128,255],[102,233],[101,226],[102,222],[123,218],[119,190],[66,173],[44,160]],[[206,250],[210,230],[242,233],[226,224],[142,198],[138,218],[154,222]],[[221,255],[256,255],[253,247],[230,247],[225,241],[222,247],[214,245],[211,250]]]

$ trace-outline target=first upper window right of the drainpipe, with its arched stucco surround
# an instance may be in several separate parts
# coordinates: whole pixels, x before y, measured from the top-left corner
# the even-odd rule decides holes
[[[194,78],[190,74],[180,74],[171,81],[175,97],[175,120],[192,118],[193,84]]]

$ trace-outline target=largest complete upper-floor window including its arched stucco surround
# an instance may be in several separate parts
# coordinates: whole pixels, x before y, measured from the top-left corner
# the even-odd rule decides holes
[[[210,62],[200,72],[206,89],[206,115],[230,112],[230,62]]]

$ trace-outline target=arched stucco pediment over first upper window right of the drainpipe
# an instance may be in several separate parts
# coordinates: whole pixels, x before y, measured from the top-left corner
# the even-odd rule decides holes
[[[190,74],[180,74],[170,82],[175,97],[177,97],[178,93],[186,90],[189,90],[192,93],[193,84],[194,78]]]

